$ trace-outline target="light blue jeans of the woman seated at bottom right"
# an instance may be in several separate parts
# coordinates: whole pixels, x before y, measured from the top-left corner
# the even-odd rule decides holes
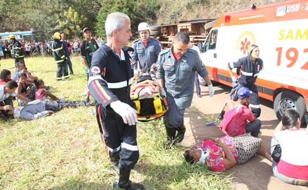
[[[271,154],[275,149],[275,145],[279,144],[279,142],[276,140],[276,138],[272,138],[271,140]],[[282,150],[283,152],[283,150]],[[292,184],[292,185],[297,185],[297,186],[308,186],[308,180],[301,180],[301,179],[296,179],[296,178],[289,178],[287,176],[284,176],[280,174],[277,170],[277,162],[275,162],[272,158],[272,168],[273,168],[273,173],[274,175],[281,181]]]

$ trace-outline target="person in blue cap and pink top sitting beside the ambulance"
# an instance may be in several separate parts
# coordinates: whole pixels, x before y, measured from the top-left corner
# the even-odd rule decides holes
[[[245,87],[239,88],[237,96],[237,101],[229,101],[226,104],[226,113],[220,128],[226,136],[251,133],[252,136],[258,137],[262,123],[259,119],[255,119],[249,109],[249,89]],[[249,121],[248,123],[247,120]]]

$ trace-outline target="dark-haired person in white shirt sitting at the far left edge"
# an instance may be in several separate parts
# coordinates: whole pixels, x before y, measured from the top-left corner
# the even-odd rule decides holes
[[[15,81],[8,81],[5,85],[0,85],[0,118],[4,121],[12,116],[13,110],[12,96],[16,96],[25,102],[30,102],[26,97],[18,95],[15,91],[18,84]]]

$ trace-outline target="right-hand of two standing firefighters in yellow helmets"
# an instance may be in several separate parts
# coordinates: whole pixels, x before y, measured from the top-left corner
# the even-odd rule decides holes
[[[54,56],[55,62],[58,65],[56,80],[62,80],[62,76],[63,79],[68,79],[70,76],[67,64],[67,57],[65,57],[62,42],[60,41],[61,34],[59,32],[56,32],[52,38],[54,39],[54,42],[51,46],[52,55]]]

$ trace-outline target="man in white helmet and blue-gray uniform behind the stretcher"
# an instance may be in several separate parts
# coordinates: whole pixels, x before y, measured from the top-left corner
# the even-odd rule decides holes
[[[150,72],[152,64],[156,63],[161,44],[157,39],[150,37],[149,25],[146,22],[138,25],[138,31],[140,38],[134,41],[132,53],[134,72],[137,72],[139,62],[139,69],[146,73]]]

